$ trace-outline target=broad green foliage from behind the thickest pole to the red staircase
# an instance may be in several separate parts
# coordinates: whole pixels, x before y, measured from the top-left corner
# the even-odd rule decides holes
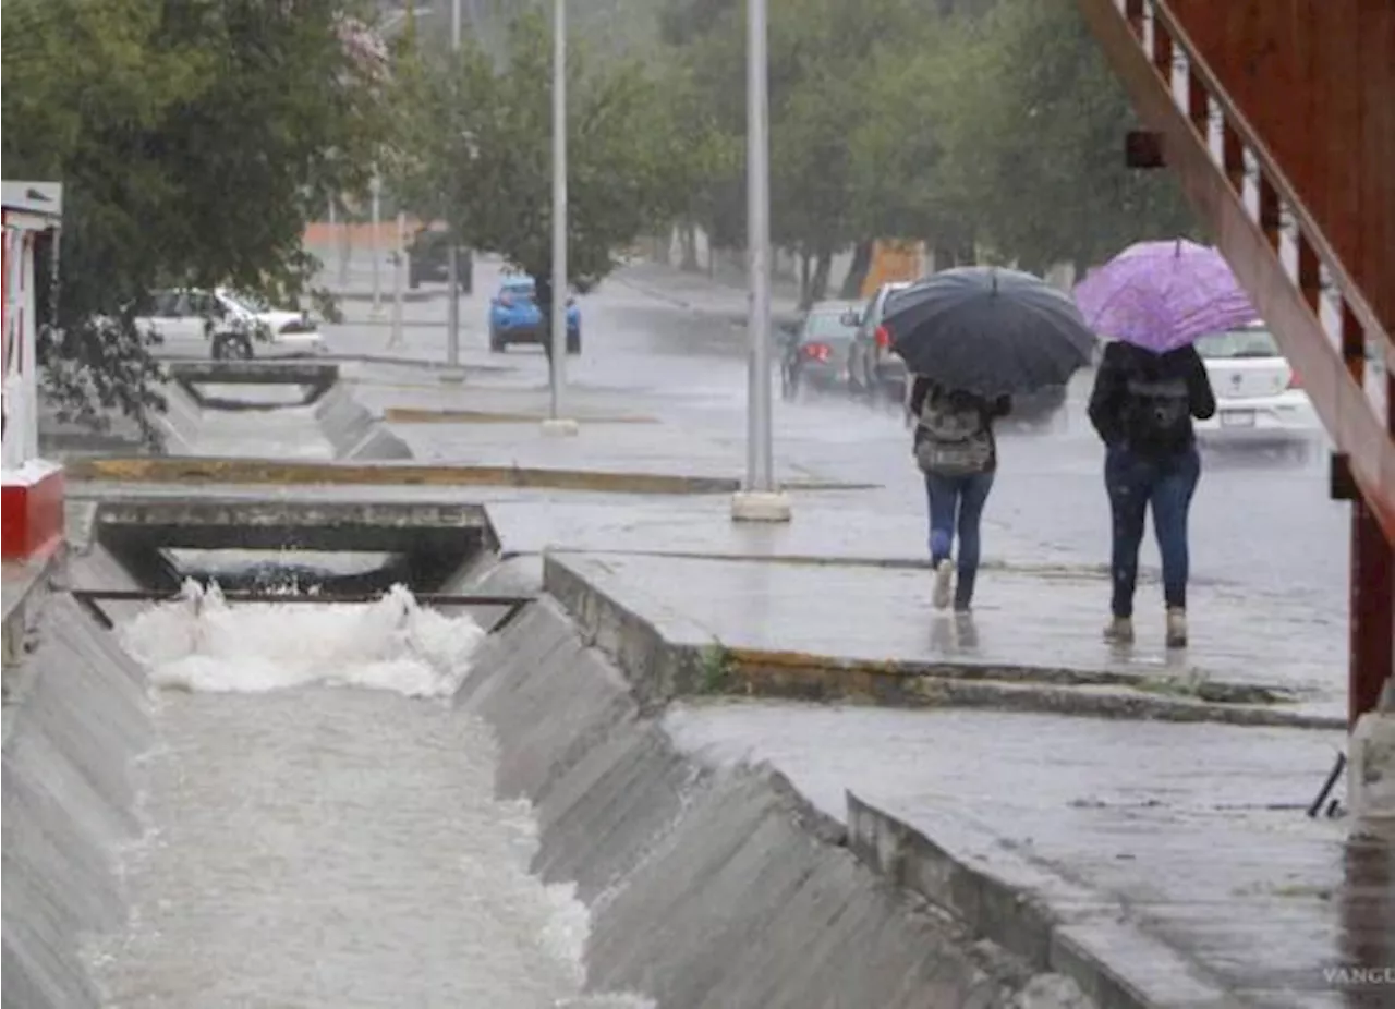
[[[739,149],[745,4],[670,0],[661,22]],[[769,38],[785,247],[926,240],[1045,269],[1193,226],[1168,173],[1124,166],[1133,114],[1069,0],[781,0]],[[745,234],[742,172],[714,166],[685,214],[723,244]]]

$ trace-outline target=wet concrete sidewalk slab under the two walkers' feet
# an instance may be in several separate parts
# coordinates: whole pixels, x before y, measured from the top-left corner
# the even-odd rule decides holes
[[[1116,648],[1099,634],[1109,579],[1089,571],[996,565],[981,572],[979,601],[963,618],[933,610],[925,565],[677,551],[552,554],[552,562],[635,617],[757,670],[738,691],[759,689],[762,668],[767,680],[777,668],[791,677],[823,668],[808,681],[822,680],[837,696],[840,670],[889,668],[1000,685],[1002,706],[1024,703],[1010,696],[1021,687],[1055,685],[1077,688],[1074,703],[1070,691],[1050,695],[1063,712],[1129,716],[1126,689],[1211,702],[1218,720],[1226,705],[1246,715],[1268,705],[1336,726],[1345,716],[1345,670],[1331,662],[1341,641],[1276,639],[1251,622],[1243,600],[1205,588],[1196,593],[1189,649],[1163,646],[1161,603],[1141,607],[1138,642]],[[1158,592],[1144,586],[1140,595]],[[1154,621],[1143,618],[1149,611]],[[1103,703],[1105,688],[1120,701],[1116,709]]]

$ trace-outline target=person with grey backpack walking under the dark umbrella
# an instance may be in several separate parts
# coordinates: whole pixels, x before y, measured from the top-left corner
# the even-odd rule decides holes
[[[974,392],[946,389],[925,375],[917,375],[910,406],[917,419],[915,461],[925,473],[925,495],[930,508],[935,608],[943,610],[950,604],[957,532],[954,613],[968,613],[978,578],[979,523],[997,472],[993,421],[1011,412],[1013,401],[1006,395],[989,401]]]

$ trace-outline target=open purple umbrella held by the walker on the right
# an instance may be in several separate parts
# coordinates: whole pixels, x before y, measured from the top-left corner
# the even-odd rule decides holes
[[[1186,239],[1130,246],[1074,293],[1091,329],[1154,353],[1258,318],[1221,253]]]

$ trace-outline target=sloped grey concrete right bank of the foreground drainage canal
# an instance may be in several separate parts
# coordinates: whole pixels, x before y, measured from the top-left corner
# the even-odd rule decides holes
[[[459,703],[537,809],[534,868],[591,909],[589,980],[672,1009],[1062,1005],[1002,949],[886,885],[767,769],[678,752],[552,601],[491,641]]]

